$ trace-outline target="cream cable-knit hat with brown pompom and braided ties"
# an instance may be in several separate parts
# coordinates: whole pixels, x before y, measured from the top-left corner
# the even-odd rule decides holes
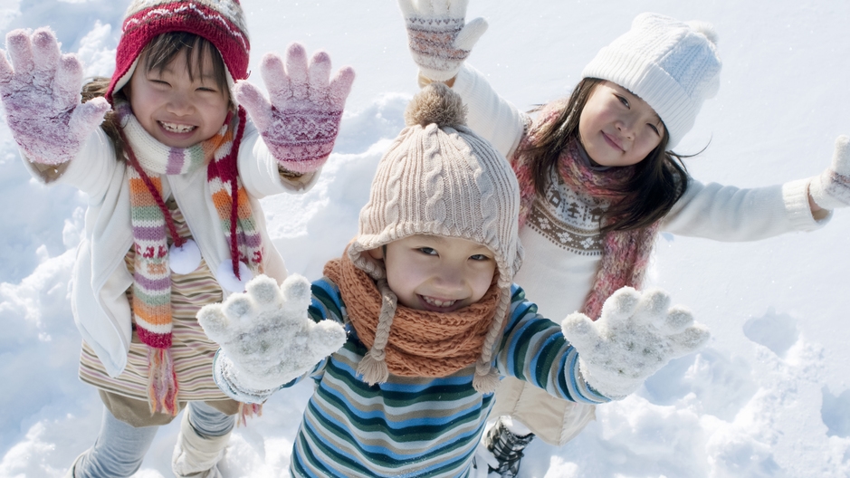
[[[383,265],[365,252],[415,234],[457,237],[495,254],[502,296],[473,381],[479,391],[492,391],[498,384],[492,349],[501,338],[511,283],[522,262],[520,188],[508,161],[466,127],[463,101],[443,83],[419,91],[405,119],[407,128],[377,165],[358,236],[348,249],[352,262],[378,282],[384,295],[375,344],[358,372],[369,383],[386,380],[383,349],[396,310]]]

